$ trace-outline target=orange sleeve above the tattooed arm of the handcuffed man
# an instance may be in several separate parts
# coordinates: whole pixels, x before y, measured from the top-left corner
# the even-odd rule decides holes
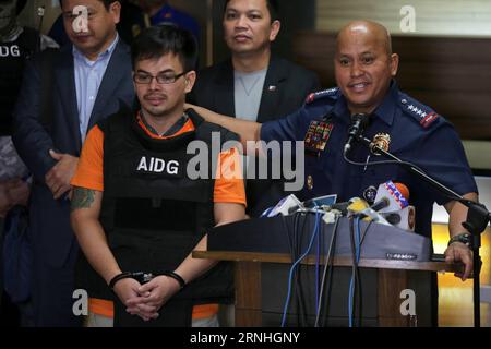
[[[104,133],[97,125],[87,134],[71,184],[104,191]]]

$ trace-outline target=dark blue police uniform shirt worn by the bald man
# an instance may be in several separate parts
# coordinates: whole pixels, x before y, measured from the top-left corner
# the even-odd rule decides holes
[[[370,185],[392,180],[409,189],[409,203],[416,207],[416,231],[431,237],[433,203],[440,205],[450,200],[435,192],[416,174],[400,165],[355,166],[343,157],[350,125],[350,112],[346,99],[338,88],[331,88],[310,96],[306,105],[292,115],[262,125],[263,141],[303,141],[313,120],[325,119],[333,130],[326,147],[318,156],[306,155],[307,177],[312,188],[304,188],[298,195],[301,200],[327,194],[337,194],[338,202],[351,197],[363,197]],[[395,81],[382,104],[370,117],[363,135],[373,140],[378,133],[391,136],[388,152],[402,160],[420,167],[429,176],[447,185],[458,194],[477,193],[477,185],[467,163],[462,142],[453,128],[432,109],[402,93]],[[388,160],[370,155],[366,145],[356,142],[348,158],[359,163]]]

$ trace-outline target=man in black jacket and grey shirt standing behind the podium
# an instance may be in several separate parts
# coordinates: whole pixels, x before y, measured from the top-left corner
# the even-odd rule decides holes
[[[276,1],[228,0],[223,26],[231,59],[199,72],[190,103],[263,123],[294,112],[320,87],[313,72],[272,55],[280,28]],[[261,215],[283,195],[280,181],[248,181],[248,214]]]

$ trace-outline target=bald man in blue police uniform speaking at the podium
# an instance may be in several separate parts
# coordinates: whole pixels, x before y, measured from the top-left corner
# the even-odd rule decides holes
[[[416,207],[416,231],[431,238],[433,203],[444,205],[450,214],[450,244],[446,262],[463,262],[463,280],[470,276],[472,253],[468,231],[462,226],[467,208],[450,201],[407,172],[402,166],[370,166],[386,160],[371,156],[369,149],[354,142],[347,156],[363,164],[344,159],[351,116],[369,115],[363,135],[375,135],[387,144],[387,151],[411,161],[428,174],[466,198],[478,201],[477,185],[469,169],[462,142],[451,123],[430,107],[402,93],[395,81],[399,58],[392,52],[391,37],[381,24],[351,22],[339,31],[334,59],[337,87],[313,94],[292,115],[261,124],[208,112],[208,119],[241,135],[242,141],[306,140],[306,185],[301,200],[336,193],[338,201],[363,197],[371,186],[387,180],[406,184],[409,203]],[[199,109],[200,115],[204,112]],[[319,143],[309,142],[309,129],[321,130]],[[312,134],[310,134],[312,135]],[[323,151],[319,151],[319,145]]]

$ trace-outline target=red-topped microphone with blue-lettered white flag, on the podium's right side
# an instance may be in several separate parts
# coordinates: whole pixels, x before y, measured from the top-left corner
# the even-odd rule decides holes
[[[371,208],[380,213],[399,210],[409,206],[408,198],[409,189],[406,185],[386,181],[379,185],[375,203]]]

